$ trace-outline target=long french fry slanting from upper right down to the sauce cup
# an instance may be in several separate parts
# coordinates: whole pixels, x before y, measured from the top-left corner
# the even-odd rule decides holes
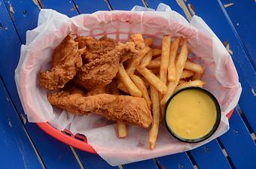
[[[184,40],[183,44],[181,46],[181,53],[178,55],[178,61],[176,64],[176,80],[174,82],[169,82],[168,90],[167,90],[166,94],[163,96],[162,100],[160,101],[161,105],[165,105],[166,101],[168,101],[169,97],[173,94],[173,92],[175,92],[175,88],[178,85],[178,81],[181,78],[182,71],[186,64],[187,54],[188,54],[187,40]]]

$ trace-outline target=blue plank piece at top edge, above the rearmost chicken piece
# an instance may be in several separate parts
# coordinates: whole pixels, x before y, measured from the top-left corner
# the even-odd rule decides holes
[[[75,5],[78,6],[78,12],[80,14],[91,14],[96,11],[108,11],[107,2],[104,0],[93,0],[93,3],[90,1],[84,0],[74,0]]]

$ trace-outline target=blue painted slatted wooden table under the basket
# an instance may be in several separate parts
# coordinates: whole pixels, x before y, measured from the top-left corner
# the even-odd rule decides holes
[[[135,5],[157,8],[160,2],[188,18],[184,11],[189,5],[221,41],[230,44],[243,90],[226,134],[189,152],[111,167],[99,155],[60,143],[26,122],[14,69],[26,31],[35,28],[41,8],[73,17],[99,10],[130,10]],[[0,168],[256,168],[255,18],[254,0],[0,0]]]

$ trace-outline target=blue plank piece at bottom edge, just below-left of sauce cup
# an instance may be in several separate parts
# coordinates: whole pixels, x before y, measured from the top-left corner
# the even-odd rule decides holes
[[[166,155],[157,159],[160,167],[165,169],[194,169],[193,164],[186,152]]]

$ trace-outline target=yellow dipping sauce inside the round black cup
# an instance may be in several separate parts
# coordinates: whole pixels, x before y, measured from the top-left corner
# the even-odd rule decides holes
[[[166,123],[176,136],[184,139],[204,137],[217,119],[215,102],[205,92],[186,89],[175,95],[166,109]]]

